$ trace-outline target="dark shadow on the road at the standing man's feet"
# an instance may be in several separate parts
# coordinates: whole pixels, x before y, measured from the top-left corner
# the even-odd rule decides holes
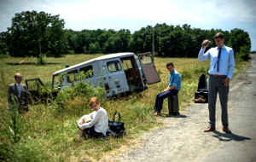
[[[241,141],[246,141],[246,140],[252,140],[249,137],[246,136],[238,136],[234,133],[221,133],[217,130],[212,131],[215,135],[213,135],[214,137],[218,138],[219,141],[221,142],[230,142],[232,140],[237,141],[237,142],[241,142]]]

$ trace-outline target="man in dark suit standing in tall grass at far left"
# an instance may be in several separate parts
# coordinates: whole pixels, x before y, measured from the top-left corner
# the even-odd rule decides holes
[[[15,102],[19,107],[20,113],[28,111],[28,90],[25,84],[21,84],[22,76],[20,73],[15,74],[15,84],[9,84],[8,102],[12,103],[12,95],[14,95]]]

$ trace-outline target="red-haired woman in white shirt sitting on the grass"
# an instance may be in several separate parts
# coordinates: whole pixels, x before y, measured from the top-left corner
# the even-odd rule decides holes
[[[96,97],[90,99],[89,106],[94,112],[86,114],[79,119],[77,125],[79,128],[79,137],[82,137],[84,132],[94,138],[106,136],[108,129],[108,113],[100,106],[100,102]]]

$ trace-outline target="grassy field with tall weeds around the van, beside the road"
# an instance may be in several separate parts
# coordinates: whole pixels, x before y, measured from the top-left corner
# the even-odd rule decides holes
[[[100,55],[67,55],[63,58],[46,58],[47,65],[37,66],[36,58],[8,57],[0,60],[0,111],[6,112],[8,85],[14,83],[14,75],[20,72],[23,84],[26,78],[41,78],[50,87],[52,73],[66,64],[73,66],[82,61],[88,61]],[[25,61],[25,64],[19,64]],[[95,161],[104,159],[109,153],[119,153],[129,145],[137,144],[137,137],[143,132],[160,127],[160,120],[167,113],[167,101],[164,101],[163,117],[155,117],[152,113],[155,95],[166,89],[168,71],[166,62],[172,61],[177,72],[183,78],[182,90],[179,92],[179,107],[181,113],[184,107],[193,102],[197,82],[201,73],[207,72],[209,61],[197,61],[196,58],[154,58],[160,74],[161,82],[148,86],[148,90],[141,94],[130,95],[125,98],[102,101],[102,107],[108,112],[109,119],[113,113],[119,111],[125,122],[126,135],[122,138],[108,138],[107,140],[79,140],[76,127],[79,118],[84,113],[90,113],[84,95],[67,101],[61,109],[44,104],[30,106],[30,111],[22,117],[24,124],[20,131],[20,141],[10,142],[10,136],[0,136],[0,154],[9,153],[10,161]],[[236,62],[235,74],[247,64]],[[1,132],[6,129],[6,121],[1,118]],[[117,149],[119,148],[119,149]],[[121,149],[120,149],[121,148]],[[2,156],[3,156],[2,155]],[[3,157],[0,157],[0,159]]]

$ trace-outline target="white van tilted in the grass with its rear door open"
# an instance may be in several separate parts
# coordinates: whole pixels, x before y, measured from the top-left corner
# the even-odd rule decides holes
[[[78,80],[81,72],[89,72],[84,82],[105,88],[107,97],[127,92],[147,90],[148,84],[160,82],[154,66],[154,56],[148,52],[102,55],[90,61],[53,73],[52,88],[61,90]]]

